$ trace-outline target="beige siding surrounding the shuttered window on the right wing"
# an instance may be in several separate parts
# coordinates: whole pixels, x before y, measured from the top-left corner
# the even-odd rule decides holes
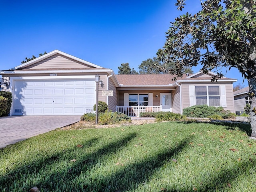
[[[233,84],[232,83],[220,83],[220,82],[209,82],[209,83],[183,83],[182,84],[182,109],[190,106],[189,102],[189,86],[207,86],[207,85],[225,85],[226,86],[226,102],[227,107],[224,107],[224,110],[230,110],[231,112],[235,112],[234,110],[234,94],[233,94]]]

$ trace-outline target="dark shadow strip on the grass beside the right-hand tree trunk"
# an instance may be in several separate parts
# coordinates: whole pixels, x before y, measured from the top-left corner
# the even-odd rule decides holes
[[[224,120],[211,120],[210,122],[198,122],[198,121],[185,121],[185,122],[180,122],[184,124],[190,124],[190,123],[208,123],[208,124],[214,124],[214,125],[222,125],[224,126],[227,130],[241,130],[246,132],[248,136],[251,136],[252,134],[252,127],[249,123],[241,123],[241,122],[226,122]]]

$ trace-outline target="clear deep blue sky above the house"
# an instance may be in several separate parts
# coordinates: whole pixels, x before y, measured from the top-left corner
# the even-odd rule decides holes
[[[164,46],[170,22],[180,14],[200,10],[199,0],[0,0],[0,70],[21,64],[26,57],[60,50],[118,74],[129,63],[138,70]],[[200,67],[192,69],[198,72]],[[232,69],[226,77],[242,84]],[[247,80],[244,82],[248,86]]]

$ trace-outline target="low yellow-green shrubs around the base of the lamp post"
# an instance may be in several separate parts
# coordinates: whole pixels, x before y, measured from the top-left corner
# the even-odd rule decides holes
[[[81,121],[95,122],[96,114],[95,113],[85,113],[81,116]],[[99,113],[98,124],[106,125],[112,124],[115,122],[130,121],[131,118],[120,112],[104,112]]]

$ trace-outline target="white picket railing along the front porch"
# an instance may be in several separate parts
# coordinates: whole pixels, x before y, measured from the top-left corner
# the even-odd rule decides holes
[[[141,112],[160,112],[160,106],[116,106],[116,112],[121,112],[130,117],[139,117]]]

